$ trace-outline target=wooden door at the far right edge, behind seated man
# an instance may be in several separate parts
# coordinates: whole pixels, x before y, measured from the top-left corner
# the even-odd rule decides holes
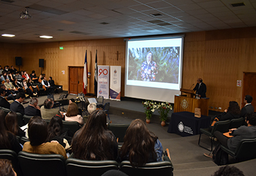
[[[253,97],[252,105],[256,110],[256,72],[244,72],[243,97],[241,108],[244,107],[244,97],[250,95]]]

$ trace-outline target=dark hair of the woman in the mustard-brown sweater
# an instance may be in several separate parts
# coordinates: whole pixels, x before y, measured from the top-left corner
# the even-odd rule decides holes
[[[34,116],[28,121],[28,138],[31,146],[39,146],[46,142],[48,126],[39,116]]]

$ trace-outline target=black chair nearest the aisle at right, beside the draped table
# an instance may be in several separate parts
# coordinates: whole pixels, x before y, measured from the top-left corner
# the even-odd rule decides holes
[[[214,132],[218,130],[221,133],[226,133],[228,132],[229,126],[230,126],[230,120],[224,120],[224,121],[217,121],[212,128],[200,128],[200,135],[199,135],[199,141],[198,141],[199,146],[200,146],[201,135],[202,134],[208,135],[210,137],[211,150],[203,146],[201,147],[205,148],[206,150],[212,151],[212,143],[214,141]]]

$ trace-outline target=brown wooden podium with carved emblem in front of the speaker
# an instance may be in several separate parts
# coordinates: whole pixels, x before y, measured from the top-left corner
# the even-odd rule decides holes
[[[188,111],[194,113],[194,108],[201,108],[201,115],[208,116],[208,101],[209,99],[195,99],[194,91],[189,89],[181,88],[181,92],[187,94],[187,97],[184,95],[175,95],[174,97],[174,113]]]

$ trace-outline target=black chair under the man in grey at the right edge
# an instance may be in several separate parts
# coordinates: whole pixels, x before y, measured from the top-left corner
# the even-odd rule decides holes
[[[256,158],[256,138],[255,139],[242,139],[238,144],[235,152],[229,150],[225,146],[221,145],[221,149],[228,153],[228,155],[235,158],[236,162],[244,162],[249,159]]]

